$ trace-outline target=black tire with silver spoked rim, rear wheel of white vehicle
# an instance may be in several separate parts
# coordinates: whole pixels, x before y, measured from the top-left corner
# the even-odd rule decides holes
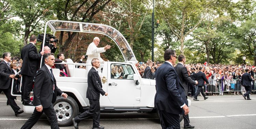
[[[72,125],[72,118],[77,116],[79,112],[79,107],[75,99],[70,96],[68,96],[67,98],[57,96],[56,102],[53,104],[53,107],[57,115],[59,126]]]

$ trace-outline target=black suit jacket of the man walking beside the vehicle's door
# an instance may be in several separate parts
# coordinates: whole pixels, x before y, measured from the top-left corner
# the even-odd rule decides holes
[[[102,90],[102,84],[100,80],[100,76],[98,72],[95,70],[95,68],[91,68],[88,72],[88,78],[87,78],[87,92],[86,97],[88,99],[100,99],[100,94],[103,96],[105,95],[105,91]]]

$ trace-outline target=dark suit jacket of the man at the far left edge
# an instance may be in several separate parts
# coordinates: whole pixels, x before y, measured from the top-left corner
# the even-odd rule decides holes
[[[9,76],[12,71],[5,61],[0,63],[0,89],[8,89],[11,86],[12,78]]]

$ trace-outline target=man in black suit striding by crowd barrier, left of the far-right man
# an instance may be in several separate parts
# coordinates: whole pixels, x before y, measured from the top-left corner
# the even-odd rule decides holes
[[[203,98],[204,98],[204,100],[205,100],[205,99],[207,99],[208,97],[206,97],[206,95],[203,93],[204,81],[205,81],[207,84],[209,84],[209,81],[207,80],[205,74],[203,73],[203,68],[202,68],[202,67],[200,67],[200,68],[199,68],[199,72],[196,73],[196,79],[197,79],[197,81],[198,81],[198,85],[197,85],[198,88],[197,88],[197,92],[196,92],[196,95],[195,95],[195,97],[194,97],[194,100],[199,101],[199,100],[197,99],[197,96],[199,95],[200,92],[202,93]]]

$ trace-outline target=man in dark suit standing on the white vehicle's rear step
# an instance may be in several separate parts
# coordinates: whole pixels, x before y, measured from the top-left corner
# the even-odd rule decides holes
[[[33,106],[29,94],[32,90],[34,77],[37,73],[38,62],[42,55],[44,55],[44,52],[37,53],[37,48],[34,45],[37,42],[35,35],[31,35],[29,41],[30,43],[22,48],[21,58],[23,59],[23,64],[20,74],[23,77],[21,88],[22,100],[25,105]]]

